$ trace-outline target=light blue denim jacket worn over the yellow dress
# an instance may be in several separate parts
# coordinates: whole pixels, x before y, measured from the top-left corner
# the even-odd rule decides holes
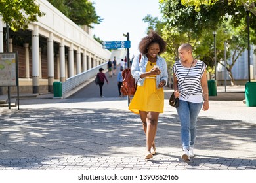
[[[133,59],[133,64],[131,65],[131,75],[137,80],[139,86],[143,86],[145,78],[140,78],[142,73],[146,73],[146,65],[148,64],[148,58],[145,55],[141,56],[139,63],[139,55]],[[158,84],[161,80],[165,80],[165,85],[167,85],[168,73],[167,65],[164,58],[157,56],[156,65],[159,66],[161,71],[160,75],[156,75],[156,88],[159,89]]]

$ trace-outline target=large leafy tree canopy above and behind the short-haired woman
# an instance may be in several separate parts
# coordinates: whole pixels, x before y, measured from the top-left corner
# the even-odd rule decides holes
[[[211,66],[214,63],[212,31],[219,32],[217,44],[221,43],[221,45],[219,47],[217,45],[217,51],[219,51],[219,53],[217,52],[217,61],[219,62],[223,58],[224,41],[228,41],[230,50],[234,51],[231,57],[232,63],[228,65],[228,73],[233,83],[232,67],[238,56],[247,48],[246,29],[248,27],[245,24],[244,6],[238,6],[234,1],[218,1],[213,5],[202,4],[200,9],[196,10],[195,7],[184,6],[181,1],[160,0],[163,19],[167,22],[167,28],[163,35],[173,37],[175,35],[173,30],[176,30],[176,35],[182,36],[181,41],[186,40],[192,44],[195,56],[199,59],[206,59],[208,65]],[[223,25],[225,22],[228,22],[226,29]],[[256,43],[255,37],[255,30],[251,29],[251,42]],[[175,44],[177,40],[175,39]],[[184,42],[180,42],[180,44],[182,43]],[[213,71],[213,69],[211,70]]]

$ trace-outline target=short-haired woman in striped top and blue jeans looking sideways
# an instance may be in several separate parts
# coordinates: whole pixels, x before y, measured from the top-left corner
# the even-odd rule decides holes
[[[190,161],[190,157],[194,157],[198,114],[202,106],[203,110],[209,109],[207,65],[193,58],[192,46],[188,43],[182,44],[178,52],[180,60],[173,65],[173,89],[175,97],[179,97],[176,109],[181,122],[181,158]]]

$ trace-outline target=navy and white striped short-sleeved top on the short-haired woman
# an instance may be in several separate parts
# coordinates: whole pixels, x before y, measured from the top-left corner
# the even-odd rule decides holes
[[[189,70],[189,67],[184,67],[181,61],[175,61],[173,73],[175,73],[178,80],[180,99],[188,99],[190,95],[200,95],[202,97],[201,79],[206,67],[207,65],[203,61],[198,60],[196,65]]]

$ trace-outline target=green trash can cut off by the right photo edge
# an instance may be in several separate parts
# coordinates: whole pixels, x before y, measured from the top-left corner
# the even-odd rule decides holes
[[[249,107],[256,106],[256,82],[245,84],[245,101]]]

